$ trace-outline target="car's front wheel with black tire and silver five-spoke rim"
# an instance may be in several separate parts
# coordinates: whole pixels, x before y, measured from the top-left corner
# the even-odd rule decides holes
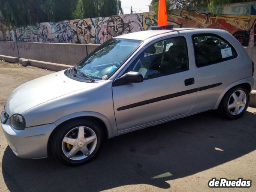
[[[104,132],[90,119],[76,119],[57,128],[51,139],[53,156],[68,166],[92,160],[100,151]]]

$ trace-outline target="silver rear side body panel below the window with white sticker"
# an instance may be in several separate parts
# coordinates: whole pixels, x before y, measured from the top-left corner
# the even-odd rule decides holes
[[[239,60],[235,58],[197,69],[199,90],[193,112],[213,109],[223,90],[236,80],[244,78],[240,72],[244,69]],[[211,85],[216,86],[210,87]],[[207,86],[208,88],[200,90]]]

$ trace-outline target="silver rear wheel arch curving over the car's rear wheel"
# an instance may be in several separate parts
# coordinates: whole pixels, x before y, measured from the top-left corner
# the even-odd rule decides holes
[[[224,95],[233,87],[236,86],[244,86],[246,89],[248,89],[249,92],[252,91],[252,87],[254,84],[254,79],[253,78],[245,78],[242,80],[238,80],[232,84],[230,84],[229,86],[226,87],[226,89],[223,90],[223,92],[220,94],[220,97],[218,98],[218,101],[216,102],[215,106],[214,106],[214,110],[218,108],[218,106],[220,105],[220,102],[222,100],[222,98],[224,97]]]

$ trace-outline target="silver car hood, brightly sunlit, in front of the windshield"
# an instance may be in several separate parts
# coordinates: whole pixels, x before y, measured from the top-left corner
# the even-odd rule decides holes
[[[64,71],[52,73],[16,88],[8,98],[5,110],[10,116],[22,114],[34,106],[95,84],[72,80]]]

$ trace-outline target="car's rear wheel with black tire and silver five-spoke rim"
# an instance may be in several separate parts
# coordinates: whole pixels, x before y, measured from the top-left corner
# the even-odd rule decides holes
[[[250,94],[246,88],[243,86],[233,87],[222,98],[218,112],[227,119],[240,118],[246,112],[249,101]]]

